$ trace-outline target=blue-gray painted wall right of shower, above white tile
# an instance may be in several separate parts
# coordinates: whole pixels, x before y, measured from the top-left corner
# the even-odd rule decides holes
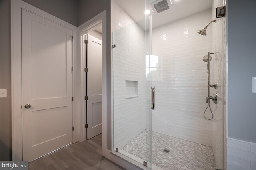
[[[256,1],[228,0],[228,137],[256,143]]]

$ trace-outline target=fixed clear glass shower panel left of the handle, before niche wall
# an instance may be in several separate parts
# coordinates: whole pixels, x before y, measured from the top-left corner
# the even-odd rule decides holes
[[[150,17],[113,32],[113,148],[150,167]],[[154,59],[154,67],[156,61]]]

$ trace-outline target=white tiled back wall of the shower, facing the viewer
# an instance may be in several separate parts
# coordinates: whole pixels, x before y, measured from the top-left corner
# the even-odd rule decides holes
[[[202,58],[212,51],[212,31],[209,27],[207,36],[196,31],[211,19],[209,9],[152,30],[152,55],[158,56],[158,68],[151,71],[152,130],[206,146],[212,146],[212,121],[203,117],[208,77]]]

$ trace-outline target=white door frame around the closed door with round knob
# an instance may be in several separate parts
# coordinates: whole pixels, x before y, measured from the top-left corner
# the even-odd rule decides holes
[[[22,74],[21,74],[21,9],[46,18],[56,24],[72,30],[74,36],[72,49],[73,87],[78,87],[78,28],[47,12],[44,12],[22,0],[11,0],[11,88],[12,88],[12,160],[22,160]],[[77,40],[76,40],[77,39]],[[80,97],[79,89],[73,88],[73,142],[81,141],[80,129]]]

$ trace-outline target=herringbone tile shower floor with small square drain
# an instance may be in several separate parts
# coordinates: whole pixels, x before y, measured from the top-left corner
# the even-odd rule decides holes
[[[149,162],[149,146],[149,131],[144,130],[122,150]],[[156,132],[152,132],[152,163],[166,170],[216,170],[212,147]]]

